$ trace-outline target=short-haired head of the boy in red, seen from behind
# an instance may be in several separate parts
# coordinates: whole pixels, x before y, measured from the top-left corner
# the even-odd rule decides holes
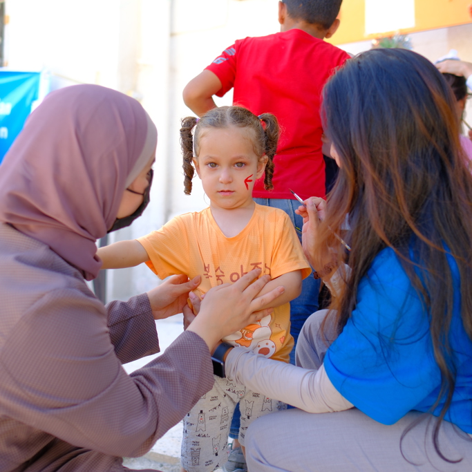
[[[316,26],[318,30],[328,34],[323,37],[330,37],[339,26],[339,9],[342,0],[283,0],[279,1],[279,23],[282,30],[290,29],[293,22],[305,23]],[[285,25],[281,21],[281,16],[289,17]],[[330,29],[334,27],[333,31]],[[329,31],[329,32],[328,32]]]

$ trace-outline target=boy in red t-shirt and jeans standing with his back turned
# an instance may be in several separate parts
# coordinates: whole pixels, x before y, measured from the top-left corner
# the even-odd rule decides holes
[[[323,39],[339,27],[341,2],[279,1],[281,32],[236,41],[183,91],[185,104],[199,116],[216,107],[213,95],[223,97],[231,88],[233,104],[245,106],[255,115],[276,115],[282,133],[274,158],[274,189],[266,191],[263,181],[257,181],[252,194],[261,205],[283,209],[299,238],[303,220],[294,212],[299,202],[289,188],[303,199],[325,196],[321,90],[335,68],[350,56]],[[305,320],[318,310],[318,293],[319,280],[308,277],[301,295],[290,302],[290,332],[295,343]]]

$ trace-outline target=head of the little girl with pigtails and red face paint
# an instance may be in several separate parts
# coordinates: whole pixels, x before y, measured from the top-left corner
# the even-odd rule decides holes
[[[264,175],[265,189],[273,188],[278,141],[279,124],[272,113],[257,117],[241,106],[221,106],[200,120],[184,118],[180,144],[185,193],[191,193],[196,170],[213,205],[225,209],[248,205],[258,178]]]

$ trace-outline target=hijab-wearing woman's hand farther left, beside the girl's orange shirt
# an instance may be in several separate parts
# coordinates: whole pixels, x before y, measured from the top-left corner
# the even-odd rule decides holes
[[[200,285],[200,279],[199,275],[193,277],[191,281],[186,275],[173,275],[158,287],[149,290],[147,296],[154,319],[164,319],[182,313],[187,305],[189,292]]]

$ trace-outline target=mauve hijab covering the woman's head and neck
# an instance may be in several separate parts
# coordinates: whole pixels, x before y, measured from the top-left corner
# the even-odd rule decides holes
[[[0,165],[0,221],[94,279],[95,240],[149,162],[157,130],[133,98],[97,85],[50,93]]]

